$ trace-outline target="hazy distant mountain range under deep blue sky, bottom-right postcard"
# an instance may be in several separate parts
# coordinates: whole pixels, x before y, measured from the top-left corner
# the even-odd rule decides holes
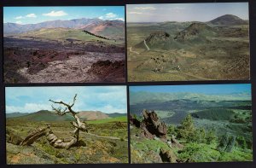
[[[200,93],[156,93],[156,92],[130,92],[130,104],[135,105],[138,103],[148,102],[165,102],[174,100],[193,100],[193,101],[250,101],[251,94],[248,92],[230,93],[230,94],[200,94]]]

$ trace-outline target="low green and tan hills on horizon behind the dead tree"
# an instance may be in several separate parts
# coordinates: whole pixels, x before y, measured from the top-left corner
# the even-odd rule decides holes
[[[82,111],[79,112],[79,118],[82,120],[110,119],[119,116],[126,116],[126,113],[102,113],[100,111]],[[21,119],[31,121],[71,121],[73,117],[67,115],[59,116],[55,112],[40,110],[35,113],[6,113],[7,119]]]

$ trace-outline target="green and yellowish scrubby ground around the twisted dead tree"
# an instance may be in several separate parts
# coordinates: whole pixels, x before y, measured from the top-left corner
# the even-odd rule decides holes
[[[35,128],[44,127],[46,124],[51,125],[55,135],[64,141],[69,141],[73,136],[70,121],[7,119],[7,164],[128,163],[126,116],[86,122],[88,133],[80,132],[79,142],[69,149],[52,147],[45,137],[31,146],[21,147],[14,144]]]

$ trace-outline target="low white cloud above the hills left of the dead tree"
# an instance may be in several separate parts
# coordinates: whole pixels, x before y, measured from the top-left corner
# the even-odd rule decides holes
[[[33,113],[39,110],[51,110],[49,104],[26,103],[23,107],[19,106],[6,106],[7,113]]]

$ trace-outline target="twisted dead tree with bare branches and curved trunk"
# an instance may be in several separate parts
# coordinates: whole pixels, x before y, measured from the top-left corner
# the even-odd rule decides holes
[[[33,131],[29,136],[26,136],[26,138],[20,143],[21,146],[25,145],[31,145],[33,142],[35,142],[39,137],[46,136],[46,139],[49,141],[49,144],[55,148],[70,148],[73,145],[75,145],[79,141],[79,131],[87,131],[86,127],[83,122],[78,117],[78,113],[74,112],[72,107],[76,101],[77,94],[73,97],[73,103],[71,105],[63,102],[63,101],[52,101],[49,100],[55,104],[59,104],[59,107],[51,106],[52,109],[56,112],[57,115],[63,116],[67,113],[71,113],[75,121],[71,122],[71,124],[74,127],[73,130],[73,138],[68,141],[64,142],[57,136],[55,136],[54,132],[50,129],[50,125],[47,125],[46,128],[41,128],[38,130]]]

